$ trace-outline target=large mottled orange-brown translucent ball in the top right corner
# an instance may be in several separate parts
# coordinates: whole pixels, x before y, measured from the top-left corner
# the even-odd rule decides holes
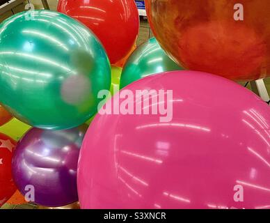
[[[189,70],[235,81],[270,75],[269,0],[146,0],[150,26]]]

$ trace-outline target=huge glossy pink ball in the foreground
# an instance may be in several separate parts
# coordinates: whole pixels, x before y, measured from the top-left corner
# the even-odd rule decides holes
[[[132,114],[145,89],[158,94]],[[84,138],[81,208],[270,208],[270,109],[257,95],[193,71],[134,82],[102,111],[119,95],[120,114],[100,112]]]

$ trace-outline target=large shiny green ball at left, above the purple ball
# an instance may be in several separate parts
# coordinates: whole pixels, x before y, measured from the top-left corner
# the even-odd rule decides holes
[[[97,112],[97,93],[110,89],[100,41],[67,15],[30,10],[8,18],[0,49],[0,103],[36,128],[81,125]]]

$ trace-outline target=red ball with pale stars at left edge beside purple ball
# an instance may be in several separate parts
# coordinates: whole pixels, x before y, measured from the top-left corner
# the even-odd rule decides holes
[[[0,133],[0,207],[15,193],[11,172],[11,159],[16,141]]]

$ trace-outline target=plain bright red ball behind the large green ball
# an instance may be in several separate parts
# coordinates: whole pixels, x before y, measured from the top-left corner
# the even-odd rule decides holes
[[[136,42],[139,17],[134,0],[60,0],[57,10],[88,26],[112,64],[123,59]]]

